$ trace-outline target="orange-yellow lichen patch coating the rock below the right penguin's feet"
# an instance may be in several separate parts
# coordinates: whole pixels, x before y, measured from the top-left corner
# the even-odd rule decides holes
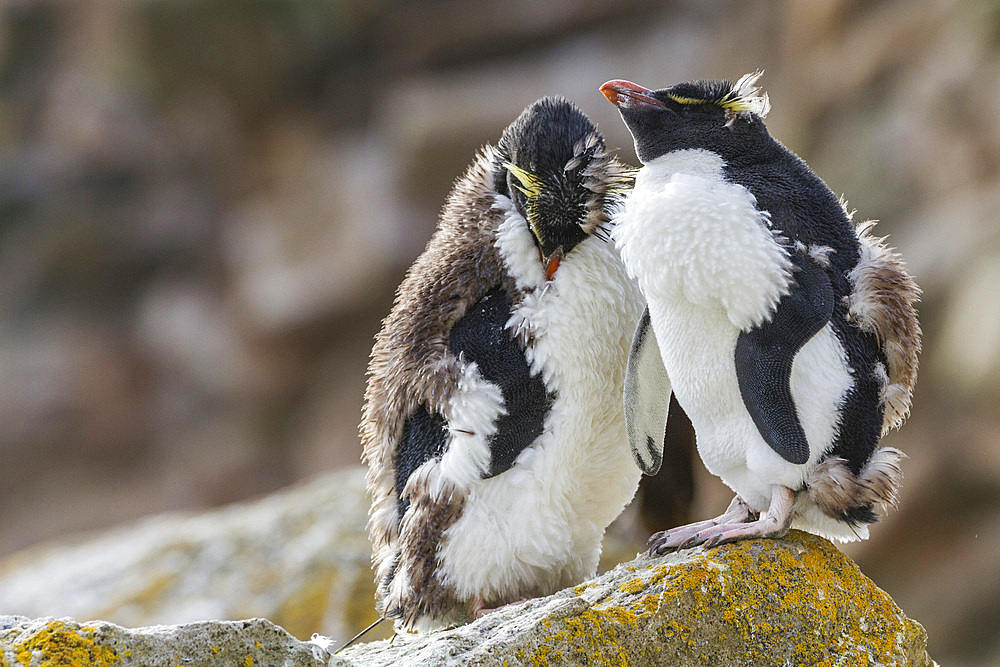
[[[748,664],[833,666],[845,656],[850,664],[896,662],[903,641],[922,632],[833,545],[797,531],[778,542],[748,540],[677,565],[637,568],[637,574],[618,585],[623,596],[543,623],[540,643],[572,647],[596,665],[638,660],[629,650],[647,657],[665,650],[708,663],[741,655]],[[675,618],[691,619],[690,625]],[[815,621],[817,631],[790,644],[789,631],[805,621]],[[647,627],[645,635],[634,631]],[[631,636],[646,640],[631,649],[623,643]],[[653,637],[658,641],[648,641]],[[533,658],[531,664],[548,664],[555,654],[547,648]]]

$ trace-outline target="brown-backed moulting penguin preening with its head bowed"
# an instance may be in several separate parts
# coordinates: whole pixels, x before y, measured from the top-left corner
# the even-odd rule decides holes
[[[634,170],[546,97],[459,178],[376,336],[360,426],[376,606],[398,632],[592,576],[635,494],[642,297],[608,237]]]

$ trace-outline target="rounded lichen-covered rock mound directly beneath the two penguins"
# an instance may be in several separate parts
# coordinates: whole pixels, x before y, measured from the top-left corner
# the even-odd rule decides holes
[[[463,628],[343,655],[365,665],[919,666],[933,664],[926,643],[836,547],[792,531],[641,557]]]

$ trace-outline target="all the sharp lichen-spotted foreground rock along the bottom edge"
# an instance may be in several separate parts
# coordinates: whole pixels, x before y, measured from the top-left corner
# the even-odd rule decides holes
[[[0,665],[932,665],[927,635],[826,540],[656,559],[454,630],[330,656],[259,619],[128,630],[0,620]]]

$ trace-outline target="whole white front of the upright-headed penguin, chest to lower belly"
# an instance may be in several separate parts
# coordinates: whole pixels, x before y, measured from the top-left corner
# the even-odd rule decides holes
[[[801,488],[836,435],[852,384],[829,325],[799,350],[791,393],[810,457],[794,465],[761,437],[736,379],[741,330],[771,317],[792,286],[788,250],[753,196],[727,182],[707,151],[678,151],[646,165],[613,236],[649,302],[661,356],[690,416],[706,467],[758,511],[771,486]],[[670,425],[667,425],[670,428]]]

